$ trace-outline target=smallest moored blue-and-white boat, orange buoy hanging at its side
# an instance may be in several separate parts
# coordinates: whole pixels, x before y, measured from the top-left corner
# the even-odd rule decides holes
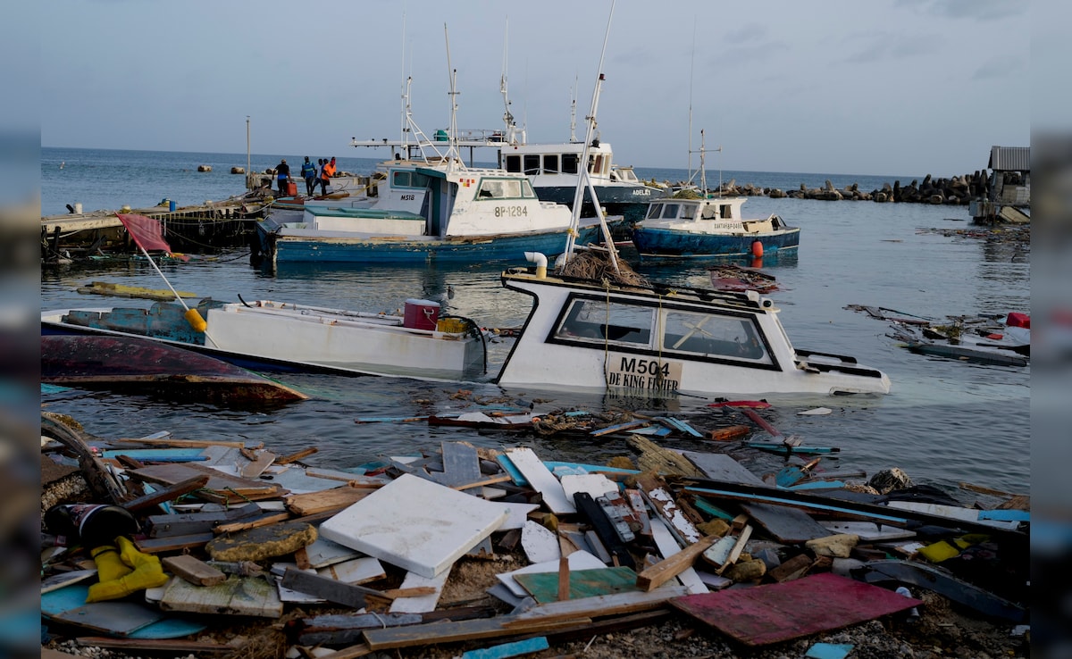
[[[787,225],[774,213],[745,219],[741,209],[747,197],[724,197],[720,189],[708,192],[703,156],[701,146],[698,191],[652,200],[644,219],[634,224],[632,244],[641,259],[762,256],[800,245],[800,227]]]

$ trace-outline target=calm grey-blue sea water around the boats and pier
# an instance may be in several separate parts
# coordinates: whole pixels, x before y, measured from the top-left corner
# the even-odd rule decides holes
[[[253,168],[272,166],[279,158],[254,155]],[[292,158],[300,161],[300,156],[285,158],[288,162]],[[45,214],[65,212],[64,205],[73,201],[93,210],[124,204],[151,206],[162,198],[180,204],[219,200],[241,192],[242,177],[227,173],[232,166],[245,166],[244,154],[43,149],[42,159]],[[341,162],[343,169],[359,173],[371,170],[376,161],[341,158]],[[213,171],[197,173],[199,164],[212,165]],[[657,180],[687,177],[686,171],[674,169],[638,167],[637,171]],[[911,180],[785,173],[723,173],[723,177],[784,189],[800,183],[819,186],[830,179],[837,186],[858,182],[861,189],[872,190],[897,178],[902,182]],[[712,181],[711,173],[708,180]],[[836,459],[823,458],[820,466],[825,469],[870,475],[900,467],[917,482],[950,491],[967,481],[1007,492],[1027,492],[1029,370],[913,355],[887,336],[887,324],[845,309],[848,304],[868,304],[932,318],[1027,312],[1027,245],[943,235],[941,230],[971,228],[963,207],[754,197],[745,211],[749,216],[777,212],[802,227],[796,255],[766,258],[762,264],[780,285],[771,297],[781,309],[793,344],[853,355],[885,371],[893,381],[893,391],[881,398],[770,398],[774,406],[764,416],[775,428],[798,435],[808,445],[839,447],[842,452]],[[241,295],[247,300],[386,311],[401,308],[407,298],[425,298],[440,301],[446,311],[473,317],[486,327],[519,326],[528,311],[528,298],[501,287],[498,266],[289,266],[269,272],[252,268],[248,256],[244,251],[233,251],[163,268],[176,288],[227,301]],[[628,251],[623,257],[652,279],[691,286],[709,284],[706,264],[641,265]],[[160,276],[145,263],[45,269],[42,306],[151,303],[76,293],[78,286],[93,281],[163,287]],[[491,348],[493,374],[509,344]],[[105,437],[166,430],[188,438],[258,440],[280,452],[315,446],[321,450],[310,462],[337,468],[353,467],[383,454],[431,450],[444,440],[468,440],[480,446],[523,443],[547,459],[583,462],[599,462],[627,452],[617,439],[540,438],[422,423],[354,422],[361,417],[413,417],[458,410],[466,405],[456,398],[460,390],[472,391],[472,396],[485,402],[533,403],[537,410],[600,410],[614,406],[652,409],[657,405],[525,388],[504,391],[487,383],[448,386],[404,378],[312,375],[281,379],[313,399],[279,409],[250,410],[72,390],[43,394],[42,403],[46,409],[74,416],[88,432]],[[683,396],[662,405],[701,429],[744,422],[743,418],[720,417],[706,407],[709,402]],[[830,407],[833,413],[798,414],[818,406]],[[757,437],[762,435],[758,433]],[[685,439],[669,444],[688,450],[708,448],[702,441]],[[773,456],[757,464],[770,470],[780,466]],[[961,497],[966,503],[972,500],[971,496]]]

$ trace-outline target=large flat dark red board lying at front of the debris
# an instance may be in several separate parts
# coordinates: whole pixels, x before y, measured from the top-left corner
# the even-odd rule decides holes
[[[832,572],[670,600],[745,645],[780,643],[919,606],[923,602]]]

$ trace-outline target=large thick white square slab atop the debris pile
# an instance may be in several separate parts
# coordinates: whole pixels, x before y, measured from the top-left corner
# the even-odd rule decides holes
[[[321,524],[321,534],[381,560],[435,578],[502,526],[492,504],[403,474]]]

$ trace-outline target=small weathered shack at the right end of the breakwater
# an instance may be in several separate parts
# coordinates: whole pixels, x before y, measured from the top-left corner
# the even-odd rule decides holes
[[[971,200],[976,222],[1027,223],[1031,207],[1031,148],[991,147],[985,196]]]

